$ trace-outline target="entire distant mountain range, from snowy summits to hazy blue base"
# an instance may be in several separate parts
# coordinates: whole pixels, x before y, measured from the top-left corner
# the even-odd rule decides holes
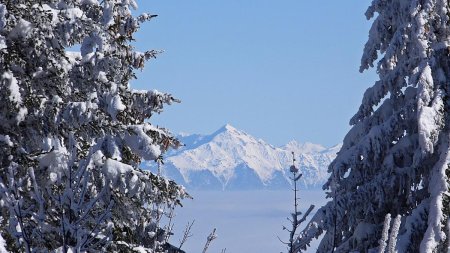
[[[291,152],[303,174],[300,187],[320,188],[341,147],[296,141],[274,147],[230,125],[211,135],[183,135],[179,139],[185,146],[165,157],[162,171],[188,189],[199,190],[289,189]],[[150,162],[144,166],[154,169]]]

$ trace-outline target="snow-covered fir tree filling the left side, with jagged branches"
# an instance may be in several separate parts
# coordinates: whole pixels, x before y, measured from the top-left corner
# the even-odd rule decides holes
[[[0,2],[0,233],[11,252],[160,252],[186,196],[139,169],[179,145],[146,119],[170,94],[137,91],[157,52],[131,46],[134,0]],[[73,51],[73,52],[72,52]]]

